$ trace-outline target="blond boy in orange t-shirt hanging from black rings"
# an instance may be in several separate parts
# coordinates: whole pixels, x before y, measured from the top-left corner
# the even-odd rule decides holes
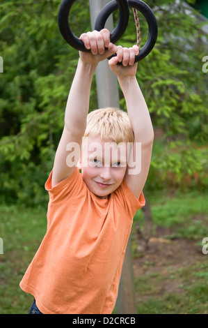
[[[153,129],[136,81],[138,47],[116,47],[107,29],[80,38],[91,51],[79,53],[63,135],[45,185],[47,233],[20,283],[35,297],[31,313],[112,313],[132,220],[145,204]],[[113,108],[88,114],[95,68],[115,53],[109,66],[128,115]]]

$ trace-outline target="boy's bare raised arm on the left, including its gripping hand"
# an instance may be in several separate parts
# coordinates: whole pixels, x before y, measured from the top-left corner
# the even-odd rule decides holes
[[[75,170],[79,154],[74,156],[74,163],[70,166],[67,162],[67,156],[72,151],[74,153],[74,149],[67,150],[67,145],[75,142],[77,144],[76,150],[81,149],[95,68],[99,61],[106,59],[117,51],[117,47],[110,43],[110,32],[107,29],[100,32],[83,33],[80,38],[91,51],[79,52],[80,58],[65,109],[63,133],[54,159],[52,187],[70,176]]]

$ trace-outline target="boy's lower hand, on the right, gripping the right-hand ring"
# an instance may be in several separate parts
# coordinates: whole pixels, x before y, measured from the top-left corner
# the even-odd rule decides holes
[[[137,63],[134,63],[135,56],[138,55],[139,49],[137,45],[133,45],[131,48],[122,47],[118,45],[117,56],[112,57],[109,60],[109,66],[113,73],[118,78],[133,77],[136,75]],[[122,62],[122,65],[117,65],[118,62]]]

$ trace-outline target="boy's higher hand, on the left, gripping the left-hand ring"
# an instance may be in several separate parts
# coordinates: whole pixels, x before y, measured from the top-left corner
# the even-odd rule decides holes
[[[80,39],[83,41],[86,49],[91,50],[91,52],[79,52],[79,57],[84,63],[98,64],[99,61],[110,57],[118,50],[117,46],[111,43],[108,29],[102,29],[99,32],[83,33]]]

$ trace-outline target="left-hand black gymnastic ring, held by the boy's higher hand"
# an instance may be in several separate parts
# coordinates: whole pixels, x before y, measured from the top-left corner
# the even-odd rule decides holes
[[[60,8],[58,10],[58,27],[60,29],[61,35],[69,43],[77,50],[83,52],[89,52],[90,50],[86,49],[82,40],[77,38],[77,36],[72,33],[69,25],[69,15],[70,9],[75,0],[62,0]],[[125,32],[128,22],[129,22],[129,3],[127,0],[116,0],[116,8],[120,10],[120,17],[117,26],[113,29],[111,33],[111,42],[115,43],[120,39],[122,34]],[[97,29],[100,31],[101,29]]]

